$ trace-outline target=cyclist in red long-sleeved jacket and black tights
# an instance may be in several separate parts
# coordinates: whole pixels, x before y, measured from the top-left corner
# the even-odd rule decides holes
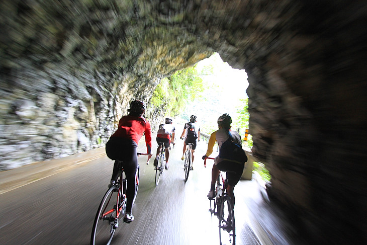
[[[124,222],[130,223],[134,220],[132,215],[132,206],[135,200],[135,175],[138,168],[138,156],[136,148],[143,133],[145,134],[145,142],[147,147],[148,159],[152,156],[152,132],[150,123],[143,118],[146,110],[145,104],[142,101],[133,101],[130,104],[129,115],[124,116],[119,121],[119,126],[114,132],[109,141],[106,143],[107,156],[115,160],[114,170],[112,173],[111,184],[114,185],[119,174],[119,160],[122,161],[127,179],[127,202]],[[131,184],[130,184],[131,183]]]

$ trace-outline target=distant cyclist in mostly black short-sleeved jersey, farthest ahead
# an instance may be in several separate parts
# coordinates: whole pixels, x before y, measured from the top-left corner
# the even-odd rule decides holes
[[[185,151],[186,146],[188,143],[193,143],[193,146],[191,148],[191,158],[192,163],[194,164],[194,152],[196,149],[197,141],[200,141],[200,127],[196,124],[197,122],[197,116],[191,115],[190,122],[185,123],[184,131],[182,131],[180,139],[184,139],[185,135],[185,141],[184,141],[184,149],[182,149],[182,157],[181,160],[184,160],[185,158]],[[194,170],[193,166],[191,166],[191,170]]]

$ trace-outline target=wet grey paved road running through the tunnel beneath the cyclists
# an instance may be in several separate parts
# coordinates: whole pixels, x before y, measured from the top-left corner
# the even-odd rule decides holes
[[[139,157],[141,179],[133,207],[135,220],[120,224],[112,244],[219,244],[218,221],[208,211],[206,197],[212,163],[204,168],[200,157],[206,144],[199,143],[195,170],[186,184],[181,150],[182,140],[177,140],[171,150],[170,168],[158,187],[153,161],[145,165],[146,156]],[[145,152],[143,142],[138,151]],[[89,244],[112,167],[113,161],[103,155],[1,194],[0,243]],[[287,230],[279,227],[277,215],[261,198],[256,181],[240,181],[235,194],[237,244],[291,244]]]

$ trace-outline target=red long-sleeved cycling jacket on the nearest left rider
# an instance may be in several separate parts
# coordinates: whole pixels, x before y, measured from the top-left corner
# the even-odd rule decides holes
[[[151,153],[152,148],[152,131],[150,123],[142,117],[124,116],[119,121],[119,127],[111,137],[122,137],[132,139],[139,144],[141,136],[145,134],[145,143],[147,146],[147,153]]]

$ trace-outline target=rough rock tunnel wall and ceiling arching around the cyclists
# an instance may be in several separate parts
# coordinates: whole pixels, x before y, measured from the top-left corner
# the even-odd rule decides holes
[[[0,11],[2,166],[96,147],[131,98],[148,101],[161,77],[216,51],[248,73],[272,200],[310,243],[366,243],[365,1],[5,0]]]

